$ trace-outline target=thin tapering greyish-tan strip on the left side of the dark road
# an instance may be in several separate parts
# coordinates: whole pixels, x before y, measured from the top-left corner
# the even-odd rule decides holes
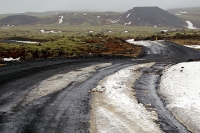
[[[26,94],[22,101],[22,106],[33,102],[43,96],[57,92],[67,87],[73,82],[82,82],[89,78],[97,69],[112,65],[111,63],[103,63],[71,71],[66,74],[57,74],[39,83],[38,86]]]

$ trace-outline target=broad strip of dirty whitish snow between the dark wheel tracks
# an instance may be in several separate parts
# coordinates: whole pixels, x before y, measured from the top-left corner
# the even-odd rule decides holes
[[[104,78],[94,92],[91,112],[92,133],[160,133],[156,112],[138,104],[133,83],[154,63],[134,65]]]

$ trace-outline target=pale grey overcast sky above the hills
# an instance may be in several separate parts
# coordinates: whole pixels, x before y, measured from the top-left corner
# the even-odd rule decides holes
[[[0,0],[0,14],[43,11],[118,11],[137,6],[197,7],[200,0]]]

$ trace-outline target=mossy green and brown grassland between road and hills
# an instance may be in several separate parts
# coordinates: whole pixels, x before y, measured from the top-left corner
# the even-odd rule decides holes
[[[44,30],[62,31],[57,34],[43,34]],[[0,39],[32,40],[38,44],[7,44],[0,43],[0,57],[21,56],[24,59],[54,58],[54,57],[80,57],[93,55],[111,55],[137,57],[141,48],[128,45],[122,40],[155,39],[155,37],[170,39],[177,34],[190,35],[196,31],[179,29],[161,34],[161,30],[170,30],[167,27],[152,26],[123,26],[118,24],[92,26],[88,23],[82,25],[32,25],[14,26],[10,29],[0,30]],[[129,31],[124,33],[124,31]],[[89,31],[94,31],[89,33]],[[109,33],[108,31],[112,31]],[[92,41],[93,42],[92,42]],[[179,43],[182,43],[179,41]],[[132,52],[131,52],[132,51]]]

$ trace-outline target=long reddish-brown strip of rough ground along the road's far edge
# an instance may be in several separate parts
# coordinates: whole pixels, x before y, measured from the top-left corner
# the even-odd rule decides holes
[[[29,50],[25,47],[5,49],[0,47],[0,57],[13,57],[29,60],[36,58],[76,58],[76,57],[138,57],[142,53],[142,47],[127,43],[116,37],[91,37],[85,38],[86,49],[76,46],[77,51],[69,53],[59,49]]]

